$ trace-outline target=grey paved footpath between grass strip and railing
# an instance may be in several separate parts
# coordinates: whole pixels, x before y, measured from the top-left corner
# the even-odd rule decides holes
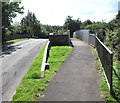
[[[78,39],[72,39],[72,43],[72,53],[39,101],[102,101],[90,47]]]

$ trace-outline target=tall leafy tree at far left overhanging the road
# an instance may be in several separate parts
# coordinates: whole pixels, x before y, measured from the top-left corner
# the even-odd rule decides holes
[[[15,18],[17,13],[23,13],[24,8],[19,4],[19,2],[2,2],[2,42],[5,42],[6,30],[10,28],[12,18]]]

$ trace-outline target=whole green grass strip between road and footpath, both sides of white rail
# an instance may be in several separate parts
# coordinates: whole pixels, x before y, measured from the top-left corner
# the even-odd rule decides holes
[[[57,71],[57,68],[65,61],[71,52],[68,46],[55,46],[50,49],[48,63],[50,69],[45,71],[45,77],[40,78],[40,67],[45,47],[41,50],[35,61],[32,63],[29,71],[23,77],[20,85],[16,89],[13,101],[36,101],[42,96],[50,82],[51,77]]]

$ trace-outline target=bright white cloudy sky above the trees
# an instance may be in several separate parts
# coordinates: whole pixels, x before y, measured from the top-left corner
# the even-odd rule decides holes
[[[42,24],[63,25],[67,16],[80,18],[82,22],[87,19],[108,22],[118,13],[118,1],[120,0],[22,0],[25,13],[18,15],[14,22],[20,22],[28,10],[35,13]]]

